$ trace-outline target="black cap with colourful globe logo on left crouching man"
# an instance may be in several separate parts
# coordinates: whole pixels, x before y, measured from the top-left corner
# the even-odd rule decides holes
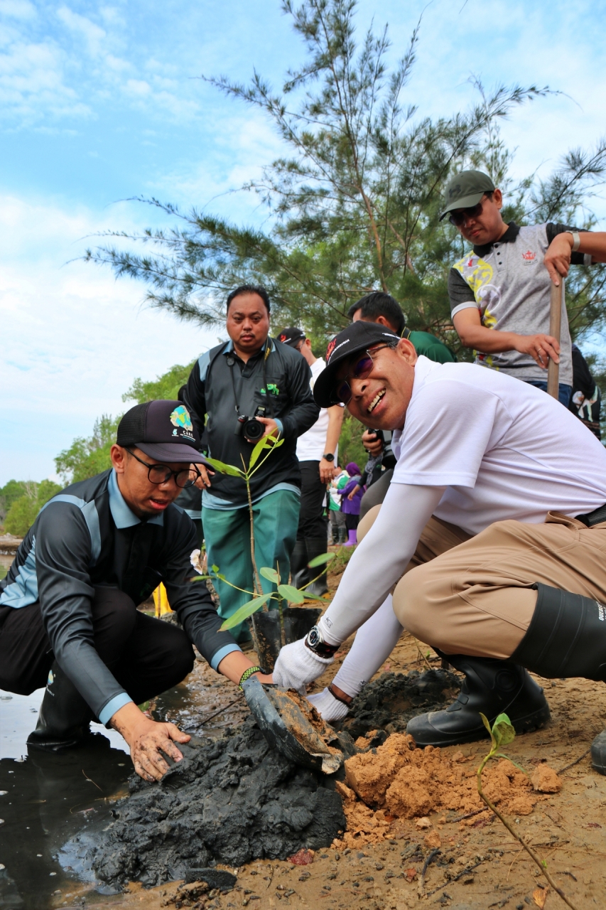
[[[136,404],[118,423],[116,442],[125,449],[136,446],[149,458],[163,463],[205,461],[198,451],[200,437],[181,401]]]

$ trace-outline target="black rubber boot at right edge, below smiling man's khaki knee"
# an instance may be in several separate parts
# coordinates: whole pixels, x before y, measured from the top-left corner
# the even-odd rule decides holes
[[[606,607],[581,594],[537,584],[528,632],[511,655],[541,676],[606,682]],[[606,730],[591,743],[591,763],[606,774]]]

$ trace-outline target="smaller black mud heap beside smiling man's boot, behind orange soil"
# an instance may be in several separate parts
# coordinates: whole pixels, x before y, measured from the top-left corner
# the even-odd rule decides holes
[[[459,691],[460,678],[448,670],[383,673],[353,700],[342,729],[354,739],[370,730],[405,733],[412,717],[442,710]]]

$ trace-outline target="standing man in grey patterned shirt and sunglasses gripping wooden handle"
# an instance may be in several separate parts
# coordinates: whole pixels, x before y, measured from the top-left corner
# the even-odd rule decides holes
[[[562,306],[561,339],[550,336],[550,283],[570,265],[606,262],[606,233],[561,224],[506,224],[503,195],[480,171],[449,181],[441,218],[472,244],[449,273],[452,321],[475,362],[547,390],[549,359],[560,363],[561,403],[572,389],[571,333]],[[440,219],[441,220],[441,219]],[[543,268],[544,267],[544,268]]]

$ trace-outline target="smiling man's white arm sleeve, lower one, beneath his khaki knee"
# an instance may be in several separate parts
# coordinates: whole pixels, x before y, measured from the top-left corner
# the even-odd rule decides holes
[[[354,698],[388,659],[403,631],[393,612],[391,594],[388,594],[379,610],[359,627],[348,656],[332,682],[341,692]]]

